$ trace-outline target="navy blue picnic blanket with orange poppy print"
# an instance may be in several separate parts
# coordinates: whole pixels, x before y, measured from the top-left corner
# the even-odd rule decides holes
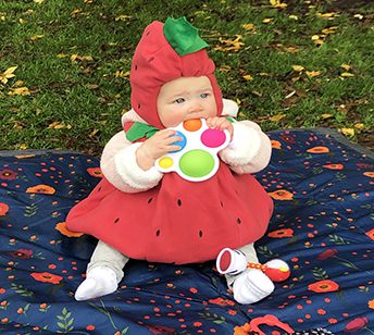
[[[257,177],[275,202],[262,262],[290,277],[251,306],[234,301],[214,262],[132,260],[116,293],[77,302],[96,240],[64,219],[100,181],[76,152],[0,153],[1,334],[248,334],[257,327],[374,334],[373,154],[322,129],[274,132]],[[278,333],[278,334],[279,334]]]

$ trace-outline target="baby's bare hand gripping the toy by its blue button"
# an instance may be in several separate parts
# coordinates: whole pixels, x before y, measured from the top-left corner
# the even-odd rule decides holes
[[[136,162],[138,165],[147,171],[153,166],[155,160],[170,151],[179,150],[180,147],[173,145],[173,142],[179,141],[182,138],[175,136],[175,134],[176,131],[162,129],[146,139],[136,150]]]

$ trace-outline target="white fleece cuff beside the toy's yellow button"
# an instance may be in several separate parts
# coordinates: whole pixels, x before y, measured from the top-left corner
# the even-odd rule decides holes
[[[154,166],[145,171],[136,162],[136,150],[141,142],[132,144],[114,157],[115,170],[124,183],[136,189],[150,189],[159,184],[163,174]]]

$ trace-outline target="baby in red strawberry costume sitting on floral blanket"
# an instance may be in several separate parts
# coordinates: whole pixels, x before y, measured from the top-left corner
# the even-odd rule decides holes
[[[115,291],[130,258],[197,263],[228,247],[258,262],[253,243],[267,228],[273,202],[251,173],[267,165],[271,142],[255,123],[227,117],[237,106],[222,98],[207,47],[185,18],[145,29],[132,63],[133,109],[123,116],[124,131],[103,150],[102,181],[66,219],[71,231],[99,239],[77,300]],[[169,127],[194,119],[226,129],[232,139],[219,153],[216,174],[199,183],[154,166],[179,149],[180,138]],[[240,303],[257,302],[274,289],[257,269],[225,276]]]

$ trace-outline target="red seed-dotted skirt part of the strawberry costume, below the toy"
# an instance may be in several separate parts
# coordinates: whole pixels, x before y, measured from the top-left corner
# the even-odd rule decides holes
[[[165,263],[213,260],[261,238],[273,201],[250,174],[220,162],[208,181],[166,173],[150,190],[126,194],[103,178],[67,215],[67,228],[94,235],[128,258]]]

